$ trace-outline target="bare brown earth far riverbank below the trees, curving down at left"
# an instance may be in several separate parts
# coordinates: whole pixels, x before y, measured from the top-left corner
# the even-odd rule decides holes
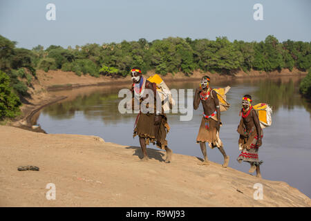
[[[153,75],[154,72],[149,72],[145,77]],[[283,77],[283,76],[304,76],[307,72],[301,72],[300,70],[283,69],[281,71],[274,71],[271,73],[265,73],[262,71],[252,70],[249,73],[245,73],[242,70],[232,75],[220,75],[219,73],[203,73],[199,70],[194,71],[191,76],[186,76],[183,73],[167,74],[162,78],[164,81],[198,81],[202,76],[209,75],[211,82],[232,80],[232,79],[243,79],[243,78],[267,78],[267,77]],[[32,81],[33,88],[29,88],[31,97],[24,98],[22,100],[23,105],[21,106],[22,114],[12,122],[6,125],[17,126],[19,128],[27,129],[30,131],[43,132],[40,127],[32,128],[32,125],[36,124],[36,119],[39,115],[41,108],[53,104],[62,99],[66,99],[68,96],[72,97],[71,93],[67,95],[51,95],[51,91],[64,91],[69,90],[74,94],[77,88],[94,88],[96,86],[105,86],[107,88],[111,86],[126,86],[129,88],[131,85],[131,77],[91,77],[90,75],[77,76],[73,72],[63,72],[61,70],[49,70],[48,73],[44,70],[37,70],[37,80]],[[73,90],[74,89],[74,90]]]

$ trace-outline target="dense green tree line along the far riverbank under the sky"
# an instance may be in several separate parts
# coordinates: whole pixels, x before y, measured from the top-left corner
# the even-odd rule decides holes
[[[21,96],[27,95],[36,70],[73,71],[126,76],[133,66],[143,73],[155,70],[160,75],[194,70],[232,74],[236,70],[281,70],[296,67],[308,70],[311,64],[311,43],[303,41],[279,42],[269,35],[265,41],[229,41],[169,37],[162,40],[122,41],[110,44],[86,44],[75,48],[36,46],[32,50],[16,48],[16,42],[0,35],[0,70],[10,77],[10,86]]]

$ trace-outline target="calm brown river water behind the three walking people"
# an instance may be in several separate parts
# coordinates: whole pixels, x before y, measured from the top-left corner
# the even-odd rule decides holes
[[[220,128],[220,139],[230,156],[229,166],[245,173],[249,169],[249,164],[236,161],[239,154],[236,128],[240,121],[241,98],[249,94],[253,104],[263,102],[273,109],[272,126],[263,129],[263,146],[258,152],[259,160],[263,160],[263,178],[288,182],[311,198],[311,104],[299,95],[300,81],[301,77],[234,79],[211,82],[211,87],[231,86],[227,93],[231,106],[221,113],[223,126]],[[171,89],[196,88],[198,84],[198,81],[168,82]],[[138,137],[133,139],[137,114],[122,115],[117,108],[122,99],[117,97],[118,91],[129,87],[115,85],[55,92],[55,95],[68,95],[68,99],[44,108],[37,123],[47,133],[97,135],[106,142],[139,146]],[[202,104],[193,112],[190,121],[180,121],[180,114],[167,116],[171,126],[167,140],[173,152],[202,157],[200,146],[196,144]],[[207,154],[209,160],[223,163],[223,156],[217,148],[208,148]]]

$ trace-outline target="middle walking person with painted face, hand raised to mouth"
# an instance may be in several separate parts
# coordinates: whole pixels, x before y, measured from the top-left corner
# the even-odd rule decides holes
[[[208,165],[207,150],[205,142],[209,143],[210,148],[217,147],[220,153],[223,154],[223,167],[227,167],[229,163],[229,156],[226,155],[223,149],[223,142],[219,137],[220,131],[220,106],[217,93],[209,86],[210,78],[208,76],[202,77],[200,87],[196,88],[194,94],[194,110],[198,109],[200,102],[203,106],[203,116],[196,137],[196,142],[200,143],[200,148],[204,156],[203,165]]]

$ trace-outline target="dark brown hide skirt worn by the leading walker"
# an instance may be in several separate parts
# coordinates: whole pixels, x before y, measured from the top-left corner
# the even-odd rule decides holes
[[[167,146],[167,133],[169,133],[169,124],[167,123],[166,115],[161,115],[162,120],[160,123],[160,127],[158,131],[156,130],[156,126],[154,125],[154,117],[156,114],[154,113],[140,113],[138,117],[138,122],[135,126],[133,137],[138,135],[139,137],[146,138],[146,144],[149,143],[156,144],[158,148],[165,149]]]

